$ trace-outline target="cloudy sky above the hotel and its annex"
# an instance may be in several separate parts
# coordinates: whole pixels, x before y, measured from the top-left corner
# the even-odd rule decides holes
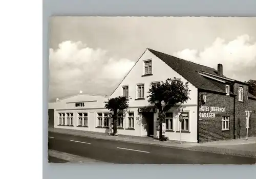
[[[256,80],[255,29],[255,17],[52,17],[49,102],[110,95],[146,48]]]

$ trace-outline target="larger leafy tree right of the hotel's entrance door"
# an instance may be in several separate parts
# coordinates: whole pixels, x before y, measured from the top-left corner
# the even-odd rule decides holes
[[[148,98],[148,103],[154,104],[159,110],[158,120],[160,124],[160,134],[159,139],[164,140],[162,136],[162,123],[165,119],[165,113],[172,107],[177,106],[181,109],[181,104],[185,103],[188,99],[190,90],[188,89],[188,82],[183,84],[183,82],[178,81],[176,83],[172,82],[172,79],[167,79],[158,85],[152,84]]]

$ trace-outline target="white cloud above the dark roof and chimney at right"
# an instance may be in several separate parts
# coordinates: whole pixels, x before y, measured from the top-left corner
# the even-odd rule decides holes
[[[246,34],[231,41],[218,37],[201,51],[184,49],[173,55],[215,69],[221,63],[223,74],[236,80],[248,81],[256,76],[256,41]]]

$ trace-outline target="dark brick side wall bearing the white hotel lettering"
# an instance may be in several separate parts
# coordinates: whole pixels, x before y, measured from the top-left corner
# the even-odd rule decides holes
[[[202,95],[206,95],[206,103],[202,105]],[[199,142],[210,142],[216,140],[233,139],[233,103],[234,97],[225,94],[215,94],[209,92],[199,92],[200,107],[220,107],[225,108],[225,112],[215,113],[214,118],[204,118],[199,116],[198,140]],[[200,111],[200,113],[209,113]],[[222,116],[229,116],[229,130],[222,131]]]

